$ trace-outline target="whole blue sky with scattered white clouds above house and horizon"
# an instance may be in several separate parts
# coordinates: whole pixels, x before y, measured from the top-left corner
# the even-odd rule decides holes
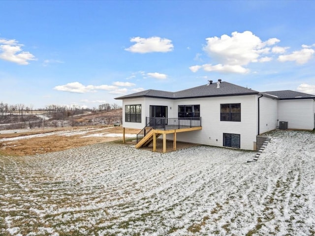
[[[230,82],[315,94],[315,1],[0,1],[0,102]]]

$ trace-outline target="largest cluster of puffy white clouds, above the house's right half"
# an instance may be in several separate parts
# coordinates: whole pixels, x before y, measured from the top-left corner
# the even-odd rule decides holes
[[[189,69],[192,72],[202,68],[205,71],[222,73],[248,73],[249,69],[246,67],[250,63],[271,61],[275,58],[275,55],[284,54],[289,49],[289,47],[275,46],[280,42],[278,38],[262,41],[251,31],[242,33],[235,31],[231,33],[231,36],[223,34],[221,37],[206,38],[206,41],[203,51],[208,54],[214,63],[190,66]],[[304,64],[313,57],[315,51],[311,48],[314,45],[302,45],[302,50],[288,55],[281,55],[278,60],[282,62],[296,61],[298,64]]]

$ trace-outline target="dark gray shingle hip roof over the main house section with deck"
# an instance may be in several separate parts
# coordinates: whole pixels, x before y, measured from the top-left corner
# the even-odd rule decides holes
[[[217,88],[217,83],[211,85],[202,85],[191,89],[185,89],[177,92],[167,92],[161,90],[145,90],[132,93],[129,95],[117,97],[115,99],[134,98],[134,97],[159,97],[169,99],[191,98],[191,97],[212,97],[212,96],[229,96],[229,95],[245,95],[257,94],[258,92],[252,89],[247,89],[228,82],[221,82],[220,88]]]

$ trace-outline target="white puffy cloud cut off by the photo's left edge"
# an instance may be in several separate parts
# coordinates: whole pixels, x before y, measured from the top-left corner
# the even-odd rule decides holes
[[[35,60],[30,52],[23,52],[23,44],[15,39],[0,38],[0,59],[11,61],[20,65],[29,64],[29,60]]]

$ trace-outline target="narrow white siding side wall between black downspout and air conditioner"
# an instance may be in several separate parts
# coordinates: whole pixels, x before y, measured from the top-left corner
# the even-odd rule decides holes
[[[278,100],[267,97],[259,99],[259,133],[274,130],[278,126]]]

